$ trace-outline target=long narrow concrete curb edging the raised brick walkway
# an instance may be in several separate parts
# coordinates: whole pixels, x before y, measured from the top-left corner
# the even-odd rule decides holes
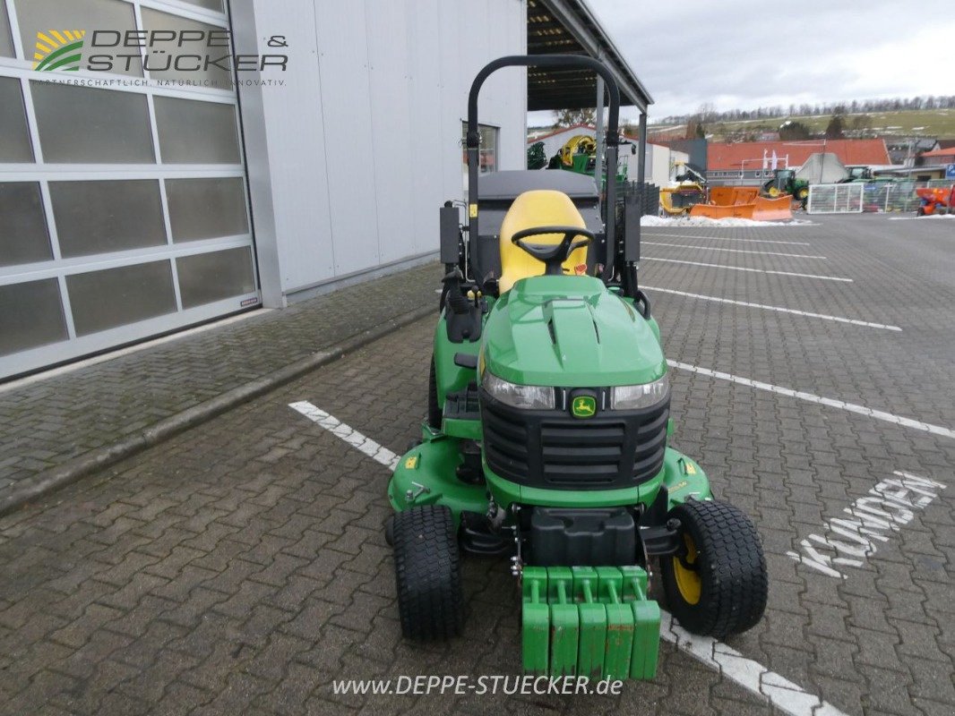
[[[27,477],[11,489],[9,495],[0,497],[0,517],[11,514],[39,497],[66,487],[81,477],[115,465],[120,460],[159,445],[180,432],[202,425],[225,411],[230,411],[305,375],[310,370],[326,366],[360,347],[367,346],[398,328],[433,315],[435,315],[434,305],[422,306],[362,331],[346,341],[312,353],[285,368],[274,370],[262,378],[245,383],[238,388],[226,390],[223,394],[197,406],[163,418],[143,431],[127,435],[112,445],[83,453],[52,470]]]

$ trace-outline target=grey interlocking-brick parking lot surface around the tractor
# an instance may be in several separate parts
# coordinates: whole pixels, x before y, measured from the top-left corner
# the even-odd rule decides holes
[[[852,284],[647,262],[650,285],[902,326],[879,331],[657,292],[669,357],[938,423],[952,420],[955,242],[944,221],[647,232],[829,261],[647,246],[647,257],[847,276]],[[810,263],[812,270],[807,270]],[[398,637],[387,469],[287,408],[310,400],[396,452],[423,413],[421,322],[0,519],[0,713],[766,713],[662,645],[617,698],[336,697],[337,678],[519,667],[506,565],[468,559],[465,635]],[[860,568],[787,552],[895,470],[951,481],[955,440],[674,370],[676,444],[748,511],[771,572],[766,619],[731,645],[847,714],[955,709],[951,487]],[[946,494],[949,493],[949,494]]]

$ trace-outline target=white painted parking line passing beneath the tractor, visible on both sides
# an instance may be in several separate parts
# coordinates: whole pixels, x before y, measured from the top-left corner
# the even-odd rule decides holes
[[[340,437],[390,470],[398,465],[398,455],[384,448],[370,437],[356,431],[328,412],[316,408],[308,401],[289,403],[309,420]],[[791,716],[846,716],[835,706],[807,693],[797,684],[770,671],[761,663],[747,659],[731,646],[717,642],[711,637],[698,637],[674,621],[667,611],[660,610],[660,638],[674,643],[678,649],[707,664],[731,681],[764,697],[772,705]]]

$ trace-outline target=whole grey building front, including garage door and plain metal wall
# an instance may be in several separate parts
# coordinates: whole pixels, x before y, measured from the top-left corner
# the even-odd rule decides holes
[[[526,36],[521,0],[0,0],[0,379],[433,256]]]

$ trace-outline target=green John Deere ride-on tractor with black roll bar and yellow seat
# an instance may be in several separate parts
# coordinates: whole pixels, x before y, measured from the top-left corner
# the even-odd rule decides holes
[[[532,65],[604,76],[608,175],[617,168],[620,95],[600,62],[502,57],[477,75],[467,226],[451,202],[440,210],[446,276],[428,417],[389,486],[401,627],[416,640],[455,637],[460,552],[509,557],[527,673],[650,679],[657,567],[673,616],[724,637],[762,617],[766,563],[750,519],[714,500],[700,466],[668,445],[667,361],[637,284],[636,198],[604,225],[593,178],[478,178],[481,85]],[[615,192],[610,182],[607,205]]]

